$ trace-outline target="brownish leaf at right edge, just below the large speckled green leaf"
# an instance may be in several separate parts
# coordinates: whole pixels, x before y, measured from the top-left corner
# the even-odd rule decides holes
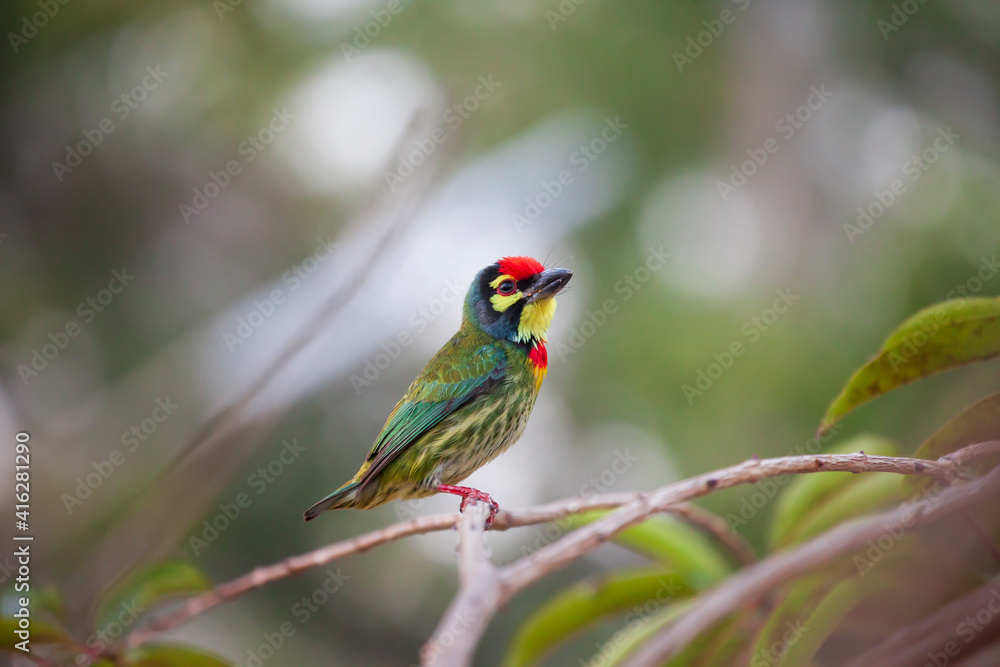
[[[1000,393],[991,394],[962,410],[927,438],[914,457],[936,461],[966,445],[989,440],[1000,440]],[[933,483],[929,477],[907,475],[903,478],[903,495],[907,498],[919,496]]]

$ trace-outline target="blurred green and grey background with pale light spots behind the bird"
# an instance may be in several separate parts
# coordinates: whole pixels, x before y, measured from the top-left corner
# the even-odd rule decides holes
[[[792,452],[907,315],[1000,293],[997,3],[0,13],[0,432],[32,435],[36,576],[81,636],[136,563],[225,581],[454,511],[436,497],[301,520],[503,255],[575,273],[527,432],[469,480],[510,508]],[[995,364],[940,375],[835,439],[910,453],[998,388]],[[725,515],[747,493],[703,505]],[[768,511],[742,528],[755,544]],[[544,539],[489,542],[507,562]],[[269,664],[407,665],[454,592],[454,544],[339,562],[306,618],[327,572],[173,636],[243,665],[290,621]],[[635,558],[606,546],[518,597],[477,664],[499,664],[561,586]]]

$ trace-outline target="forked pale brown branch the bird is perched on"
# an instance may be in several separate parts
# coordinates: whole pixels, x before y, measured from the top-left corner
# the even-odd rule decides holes
[[[978,449],[973,449],[978,448]],[[429,643],[424,647],[422,655],[433,654],[433,659],[439,662],[432,664],[461,665],[454,662],[453,656],[471,655],[476,644],[492,617],[499,608],[511,597],[531,585],[550,572],[565,567],[570,562],[589,553],[593,549],[611,539],[628,526],[641,522],[658,512],[673,512],[698,521],[700,525],[713,533],[721,531],[721,526],[706,521],[706,514],[696,508],[683,505],[685,501],[697,498],[718,489],[729,488],[739,484],[753,484],[767,477],[788,474],[802,474],[823,471],[891,472],[897,474],[919,474],[942,479],[950,483],[960,473],[961,467],[987,455],[1000,453],[1000,441],[973,445],[959,450],[940,461],[927,461],[890,456],[867,456],[858,454],[827,454],[815,456],[791,456],[764,460],[750,460],[736,466],[706,473],[697,477],[675,482],[650,493],[613,493],[595,495],[587,498],[569,498],[547,505],[514,511],[501,511],[492,528],[507,530],[518,526],[548,523],[570,515],[590,512],[593,510],[618,509],[594,523],[588,524],[558,541],[540,549],[534,554],[525,556],[513,564],[497,569],[489,563],[485,551],[473,548],[470,542],[478,534],[482,542],[482,527],[485,515],[478,503],[469,503],[465,517],[470,521],[473,514],[478,522],[478,533],[472,527],[461,528],[460,537],[465,545],[460,549],[463,562],[473,557],[481,560],[488,567],[473,570],[467,562],[462,565],[466,574],[462,574],[462,588],[452,602],[441,625],[438,627],[437,639],[452,634],[461,634],[461,641],[451,641],[450,646],[438,641],[433,646]],[[474,510],[474,511],[473,511]],[[480,515],[483,515],[480,518]],[[170,630],[186,621],[212,609],[223,602],[234,600],[252,590],[265,586],[279,579],[299,574],[307,569],[326,565],[334,560],[361,553],[378,545],[392,542],[411,535],[447,530],[464,526],[463,515],[436,515],[411,519],[393,524],[358,537],[327,545],[314,551],[293,556],[279,563],[258,567],[255,570],[232,581],[220,584],[211,591],[188,599],[180,607],[154,618],[147,625],[129,634],[123,641],[126,648],[134,648],[153,639],[159,633]],[[727,527],[728,528],[728,527]],[[719,539],[723,536],[718,535]],[[725,538],[732,542],[731,538]],[[749,555],[743,547],[730,547],[742,551],[741,560],[748,560]],[[485,547],[484,547],[485,549]],[[473,575],[471,572],[479,572]],[[490,582],[489,587],[482,582]],[[487,590],[489,588],[489,590]],[[445,621],[451,625],[445,625]],[[438,635],[441,635],[438,637]],[[471,648],[469,648],[471,647]]]

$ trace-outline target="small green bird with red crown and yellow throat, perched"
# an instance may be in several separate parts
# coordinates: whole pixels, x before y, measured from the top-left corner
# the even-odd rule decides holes
[[[459,482],[521,437],[548,369],[555,296],[572,278],[525,256],[503,257],[476,274],[458,333],[438,350],[389,414],[350,481],[305,512],[371,509],[392,500],[449,493],[500,506]]]

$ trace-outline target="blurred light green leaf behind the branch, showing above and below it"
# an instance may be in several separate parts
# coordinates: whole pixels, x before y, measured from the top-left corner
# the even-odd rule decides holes
[[[828,454],[865,452],[874,456],[895,456],[896,443],[874,435],[861,434],[829,448]],[[860,482],[852,472],[818,472],[796,475],[778,497],[769,537],[772,545],[790,544],[792,535],[815,515],[822,504],[846,487]]]

